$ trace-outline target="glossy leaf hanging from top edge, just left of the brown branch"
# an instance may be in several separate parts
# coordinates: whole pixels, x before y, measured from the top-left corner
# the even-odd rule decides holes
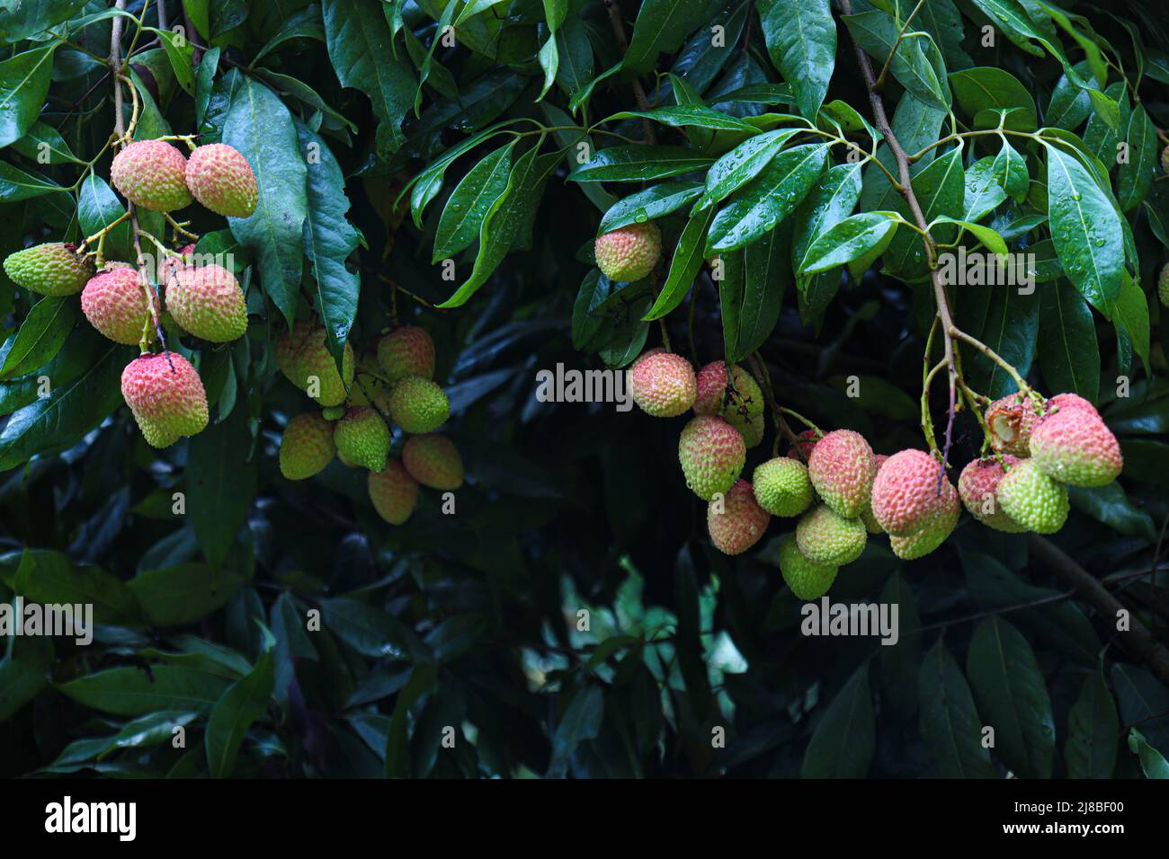
[[[815,119],[836,65],[836,22],[829,0],[762,0],[767,53],[791,84],[800,112]]]

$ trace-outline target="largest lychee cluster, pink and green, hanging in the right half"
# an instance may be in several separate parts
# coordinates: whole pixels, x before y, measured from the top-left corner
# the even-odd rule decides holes
[[[798,518],[780,541],[779,566],[802,600],[828,593],[870,534],[888,534],[904,560],[929,554],[954,531],[962,504],[999,531],[1053,533],[1067,518],[1066,485],[1102,486],[1123,464],[1115,436],[1082,397],[1015,395],[988,408],[995,456],[967,465],[957,489],[936,456],[874,453],[864,436],[845,429],[801,432],[787,456],[761,463],[748,482],[740,474],[747,449],[762,441],[765,406],[749,373],[722,361],[694,373],[680,355],[652,349],[634,363],[629,383],[649,415],[694,410],[678,459],[686,485],[708,503],[707,528],[719,550],[746,552],[773,515]]]

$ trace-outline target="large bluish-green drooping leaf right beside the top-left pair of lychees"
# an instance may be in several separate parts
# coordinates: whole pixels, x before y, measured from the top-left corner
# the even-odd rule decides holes
[[[228,226],[255,256],[264,292],[292,327],[309,214],[306,168],[292,116],[271,90],[244,78],[231,99],[223,143],[248,159],[260,192],[256,210],[229,217]]]

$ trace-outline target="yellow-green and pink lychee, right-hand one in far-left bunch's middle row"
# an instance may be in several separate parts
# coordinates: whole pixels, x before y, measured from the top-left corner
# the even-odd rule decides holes
[[[184,331],[210,342],[238,340],[248,331],[243,290],[222,265],[187,265],[170,272],[166,309]]]

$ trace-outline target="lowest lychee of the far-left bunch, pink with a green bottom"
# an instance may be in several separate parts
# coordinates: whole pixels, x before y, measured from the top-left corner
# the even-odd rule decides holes
[[[140,355],[122,370],[122,396],[146,442],[167,448],[207,427],[207,392],[177,352]]]

